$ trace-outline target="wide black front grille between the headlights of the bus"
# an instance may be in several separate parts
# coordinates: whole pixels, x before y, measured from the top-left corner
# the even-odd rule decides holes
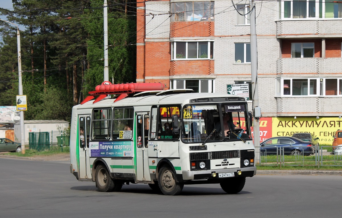
[[[240,151],[213,151],[213,152],[201,152],[190,153],[190,161],[194,160],[216,160],[216,159],[229,159],[240,158]]]

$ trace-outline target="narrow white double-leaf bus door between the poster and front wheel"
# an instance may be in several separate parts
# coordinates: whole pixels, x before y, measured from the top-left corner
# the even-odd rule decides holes
[[[148,166],[148,112],[136,113],[136,177],[137,181],[151,181]]]

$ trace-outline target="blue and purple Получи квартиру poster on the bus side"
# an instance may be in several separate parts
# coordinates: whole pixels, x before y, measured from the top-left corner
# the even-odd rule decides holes
[[[93,141],[89,144],[91,157],[131,157],[132,141]]]

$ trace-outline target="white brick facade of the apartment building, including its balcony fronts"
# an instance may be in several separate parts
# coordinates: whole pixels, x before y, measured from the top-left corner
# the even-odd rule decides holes
[[[261,2],[255,3],[259,106],[263,116],[342,115],[341,97],[275,97],[277,77],[342,77],[342,58],[281,58],[281,39],[278,39],[302,38],[305,41],[307,37],[342,38],[341,19],[278,21],[278,2],[263,1],[262,7]],[[168,1],[146,2],[146,14],[161,14],[168,11]],[[230,0],[215,1],[215,13],[215,92],[226,93],[227,84],[251,81],[251,65],[234,63],[234,43],[250,42],[250,26],[236,25],[236,11]],[[146,16],[146,38],[168,38],[168,17],[168,14],[156,15],[153,19],[151,15]],[[251,103],[248,106],[251,110]]]

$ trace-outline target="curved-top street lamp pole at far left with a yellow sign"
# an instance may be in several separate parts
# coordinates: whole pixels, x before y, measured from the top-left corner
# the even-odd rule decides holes
[[[4,21],[0,19],[0,21]],[[17,27],[17,50],[18,50],[18,78],[19,78],[19,95],[23,95],[22,70],[21,70],[21,48],[20,48],[20,33],[18,25],[9,21],[4,21]],[[20,135],[21,135],[21,149],[22,154],[25,154],[25,132],[24,132],[24,111],[20,111]]]

